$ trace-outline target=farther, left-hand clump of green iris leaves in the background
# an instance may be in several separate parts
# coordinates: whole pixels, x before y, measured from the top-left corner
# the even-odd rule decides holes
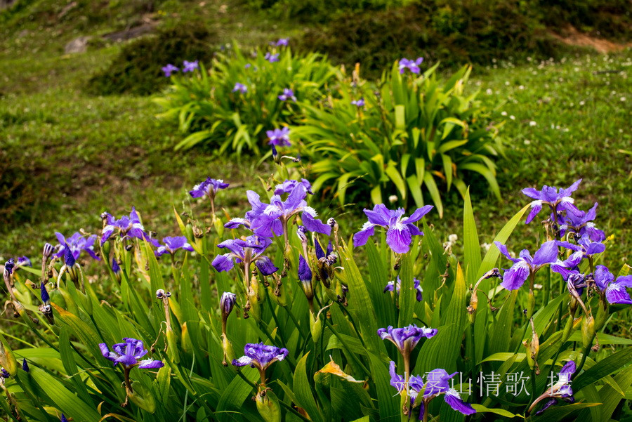
[[[258,152],[265,131],[294,121],[296,101],[319,100],[335,74],[317,53],[296,55],[285,46],[244,53],[235,46],[218,55],[208,72],[174,75],[158,100],[161,117],[178,119],[181,131],[192,132],[177,149],[206,143],[220,152]],[[279,98],[287,89],[292,95]]]

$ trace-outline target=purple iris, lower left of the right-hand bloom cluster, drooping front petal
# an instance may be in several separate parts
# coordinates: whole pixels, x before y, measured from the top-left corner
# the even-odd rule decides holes
[[[520,251],[520,258],[512,258],[507,251],[507,246],[498,241],[494,242],[494,244],[508,260],[513,262],[511,268],[505,271],[503,282],[501,283],[501,286],[507,290],[520,289],[520,286],[525,284],[525,280],[527,280],[529,275],[544,267],[544,265],[558,261],[558,246],[555,244],[555,240],[544,242],[533,258],[527,249]]]

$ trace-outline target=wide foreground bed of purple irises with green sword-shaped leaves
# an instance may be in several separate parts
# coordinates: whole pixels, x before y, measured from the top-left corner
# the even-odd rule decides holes
[[[596,206],[574,204],[579,182],[523,190],[546,242],[519,258],[505,244],[529,205],[482,254],[467,191],[462,256],[422,220],[432,207],[364,210],[348,241],[360,223],[322,223],[298,180],[247,192],[252,209],[227,220],[214,210],[228,186],[209,178],[164,244],[135,209],[104,213],[98,237],[46,244],[41,271],[5,263],[8,310],[37,341],[3,329],[0,406],[13,421],[617,418],[632,341],[607,320],[632,277],[600,265],[608,240]],[[378,239],[366,254],[362,233]]]

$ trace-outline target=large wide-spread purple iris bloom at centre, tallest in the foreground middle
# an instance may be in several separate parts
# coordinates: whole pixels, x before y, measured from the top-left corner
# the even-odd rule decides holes
[[[267,204],[263,212],[252,220],[251,228],[253,232],[265,237],[279,236],[281,234],[287,237],[289,220],[292,216],[301,213],[303,225],[307,230],[327,236],[331,235],[331,227],[317,219],[318,214],[315,209],[307,206],[307,202],[305,202],[306,196],[305,188],[301,185],[296,185],[285,201],[279,195],[273,195],[270,198],[270,204]],[[280,233],[279,228],[282,229]]]

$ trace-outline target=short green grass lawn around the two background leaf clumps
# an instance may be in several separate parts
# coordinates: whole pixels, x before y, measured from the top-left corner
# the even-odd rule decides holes
[[[230,23],[229,11],[213,18],[227,42],[237,39],[255,45],[296,31],[274,28],[252,13],[239,15],[240,21]],[[154,118],[159,110],[151,97],[86,95],[85,81],[120,46],[62,55],[60,46],[71,35],[55,35],[51,28],[37,32],[34,27],[26,36],[12,34],[4,41],[7,48],[0,48],[4,51],[0,53],[0,143],[36,185],[36,206],[27,209],[19,222],[0,229],[0,257],[33,258],[44,241],[55,239],[55,231],[97,231],[102,211],[120,215],[132,205],[159,237],[173,235],[171,204],[181,208],[189,202],[186,190],[206,176],[224,178],[236,187],[221,200],[232,215],[241,214],[246,207],[244,191],[261,190],[257,177],[270,173],[268,165],[258,166],[258,157],[227,159],[199,149],[173,152],[182,135],[175,125]],[[499,161],[503,201],[496,202],[484,190],[474,192],[482,242],[490,243],[504,222],[527,204],[519,192],[522,187],[545,183],[565,187],[584,178],[577,204],[587,209],[599,202],[597,223],[614,235],[606,265],[618,272],[628,261],[631,65],[628,50],[612,56],[590,54],[561,62],[475,68],[475,85],[482,97],[490,105],[502,103],[497,118],[506,121],[502,133],[508,144],[506,159]],[[608,72],[594,73],[603,71]],[[335,202],[324,202],[329,204]],[[350,208],[354,211],[340,218],[345,235],[364,220],[360,206]],[[323,209],[322,214],[340,211]],[[457,232],[461,202],[456,192],[448,195],[444,220],[430,219],[445,237]],[[518,233],[526,239],[535,230],[527,227]],[[511,249],[520,250],[522,243],[529,242],[515,236]]]

